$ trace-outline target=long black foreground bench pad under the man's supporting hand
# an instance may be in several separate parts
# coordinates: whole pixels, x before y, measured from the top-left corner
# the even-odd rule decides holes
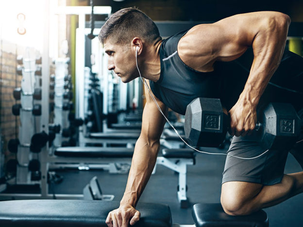
[[[107,227],[109,211],[119,201],[10,200],[0,202],[1,227]],[[140,220],[134,227],[171,227],[167,205],[138,203]]]

